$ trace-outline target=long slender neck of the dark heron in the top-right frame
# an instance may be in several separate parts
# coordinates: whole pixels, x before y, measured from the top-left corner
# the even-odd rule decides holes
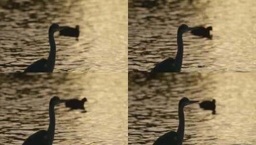
[[[182,40],[181,32],[177,33],[177,43],[178,43],[178,51],[177,51],[175,60],[178,64],[178,66],[181,68],[182,59],[183,59],[183,40]]]

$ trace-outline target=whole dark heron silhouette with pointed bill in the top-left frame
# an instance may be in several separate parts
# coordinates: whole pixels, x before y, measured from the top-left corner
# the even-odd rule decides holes
[[[48,59],[40,59],[29,65],[24,73],[52,73],[55,66],[56,60],[56,44],[54,40],[54,33],[66,29],[67,27],[60,27],[58,24],[53,23],[49,28],[49,43],[50,43],[50,53]]]

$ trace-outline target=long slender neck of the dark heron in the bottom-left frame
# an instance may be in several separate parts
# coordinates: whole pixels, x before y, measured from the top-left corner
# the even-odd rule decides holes
[[[50,144],[53,144],[54,134],[55,134],[55,113],[54,113],[54,105],[49,106],[49,117],[50,117],[50,124],[47,130],[48,139]]]

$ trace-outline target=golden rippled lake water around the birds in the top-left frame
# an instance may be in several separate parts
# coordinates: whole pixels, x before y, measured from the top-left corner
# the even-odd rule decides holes
[[[78,41],[55,34],[54,72],[127,72],[127,0],[1,0],[0,72],[23,72],[49,55],[48,29],[80,26]]]

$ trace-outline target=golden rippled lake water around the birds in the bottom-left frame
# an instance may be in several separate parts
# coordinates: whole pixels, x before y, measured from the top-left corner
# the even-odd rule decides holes
[[[126,73],[1,74],[0,145],[22,145],[48,128],[48,106],[61,99],[82,99],[86,113],[58,104],[54,145],[127,145]]]

